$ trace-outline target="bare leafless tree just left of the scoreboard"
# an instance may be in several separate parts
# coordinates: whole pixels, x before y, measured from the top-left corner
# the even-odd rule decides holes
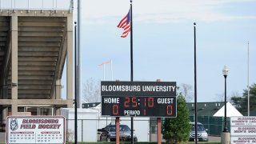
[[[83,100],[85,102],[101,102],[101,82],[89,78],[83,84]]]

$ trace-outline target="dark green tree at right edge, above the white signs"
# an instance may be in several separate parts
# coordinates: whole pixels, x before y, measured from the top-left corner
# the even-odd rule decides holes
[[[250,90],[250,116],[256,115],[256,83],[249,86]],[[243,115],[248,115],[248,90],[243,90],[242,97],[234,95],[231,97],[231,103],[238,109]],[[253,112],[253,113],[251,113]]]

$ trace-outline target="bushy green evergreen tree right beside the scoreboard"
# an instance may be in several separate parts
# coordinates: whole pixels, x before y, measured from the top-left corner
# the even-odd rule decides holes
[[[190,114],[186,99],[179,94],[177,97],[177,118],[165,118],[163,138],[167,143],[188,141],[190,137]]]

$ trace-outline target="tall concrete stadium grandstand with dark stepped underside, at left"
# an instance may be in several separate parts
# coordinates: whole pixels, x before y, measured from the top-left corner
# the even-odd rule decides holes
[[[65,61],[66,99],[62,99]],[[57,115],[61,107],[73,107],[73,63],[72,11],[1,10],[2,120],[18,112]]]

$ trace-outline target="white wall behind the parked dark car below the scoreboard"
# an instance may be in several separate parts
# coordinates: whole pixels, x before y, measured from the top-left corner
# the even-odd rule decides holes
[[[109,125],[110,122],[114,124],[114,117],[102,117],[100,112],[97,109],[78,109],[78,142],[97,142],[97,130]],[[74,131],[74,109],[63,108],[61,114],[67,119],[66,131],[69,129]],[[149,142],[149,119],[134,118],[134,133],[139,142]],[[121,117],[120,124],[130,127],[130,117]]]

